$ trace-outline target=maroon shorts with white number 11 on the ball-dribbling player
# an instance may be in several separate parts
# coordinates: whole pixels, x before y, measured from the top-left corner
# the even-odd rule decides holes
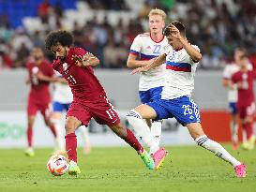
[[[106,96],[101,96],[96,102],[72,102],[67,117],[73,116],[88,126],[93,117],[98,124],[115,126],[120,123],[119,116]]]

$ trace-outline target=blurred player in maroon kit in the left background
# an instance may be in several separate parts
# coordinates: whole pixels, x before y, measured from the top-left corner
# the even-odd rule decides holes
[[[27,142],[28,149],[25,155],[34,156],[32,147],[33,125],[38,111],[43,115],[46,126],[49,126],[56,138],[55,127],[50,121],[51,96],[49,92],[49,82],[55,81],[53,78],[53,67],[44,60],[43,52],[40,48],[35,48],[32,53],[33,62],[27,64],[28,79],[31,89],[27,101]]]

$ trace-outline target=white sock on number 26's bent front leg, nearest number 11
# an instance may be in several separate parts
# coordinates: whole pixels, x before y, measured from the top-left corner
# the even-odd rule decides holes
[[[150,132],[149,127],[143,121],[141,114],[135,110],[131,110],[127,115],[128,123],[133,126],[134,131],[137,136],[143,140],[143,142],[150,147],[152,153],[158,151],[158,143],[154,140],[152,133]]]

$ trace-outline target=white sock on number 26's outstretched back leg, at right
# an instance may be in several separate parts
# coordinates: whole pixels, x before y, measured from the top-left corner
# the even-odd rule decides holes
[[[233,167],[241,164],[241,162],[237,161],[233,155],[230,155],[218,142],[208,139],[206,135],[197,138],[195,141],[198,143],[198,145],[213,152],[219,158],[222,158],[223,160],[232,164]]]

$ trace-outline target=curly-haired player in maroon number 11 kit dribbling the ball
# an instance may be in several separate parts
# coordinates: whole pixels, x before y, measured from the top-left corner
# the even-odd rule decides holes
[[[46,48],[55,54],[53,69],[68,81],[73,94],[73,102],[68,109],[66,119],[66,151],[68,153],[68,173],[81,172],[77,165],[77,139],[75,130],[79,126],[88,126],[93,117],[98,124],[109,126],[113,132],[128,142],[143,162],[153,170],[152,157],[143,149],[134,134],[120,123],[119,116],[110,103],[106,93],[94,75],[92,66],[99,64],[98,58],[82,48],[71,47],[73,37],[67,31],[50,33],[45,40]]]

